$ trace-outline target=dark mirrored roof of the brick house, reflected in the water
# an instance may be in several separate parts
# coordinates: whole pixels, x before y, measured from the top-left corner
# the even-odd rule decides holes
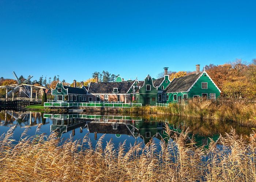
[[[117,130],[113,130],[112,123],[87,123],[91,133],[106,133],[106,134],[125,134],[131,135],[130,130],[125,124],[118,123]]]

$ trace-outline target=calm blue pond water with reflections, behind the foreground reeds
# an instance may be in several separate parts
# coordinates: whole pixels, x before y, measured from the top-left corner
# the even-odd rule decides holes
[[[0,111],[0,135],[6,133],[10,127],[15,126],[14,139],[19,140],[25,128],[29,128],[27,134],[34,135],[39,123],[43,123],[41,132],[49,135],[53,131],[59,133],[61,139],[67,139],[70,135],[74,139],[82,139],[84,135],[89,137],[96,145],[98,139],[105,135],[103,144],[110,139],[117,147],[119,143],[127,141],[131,143],[142,142],[146,144],[152,138],[156,143],[165,138],[163,127],[165,123],[175,132],[182,132],[190,128],[189,137],[194,137],[197,146],[207,147],[209,138],[218,141],[220,134],[229,132],[231,127],[238,134],[249,135],[251,128],[237,126],[234,123],[219,123],[217,121],[203,121],[200,119],[184,119],[180,117],[159,115],[128,115],[123,113],[86,112],[86,113],[41,113],[41,112],[17,112]]]

